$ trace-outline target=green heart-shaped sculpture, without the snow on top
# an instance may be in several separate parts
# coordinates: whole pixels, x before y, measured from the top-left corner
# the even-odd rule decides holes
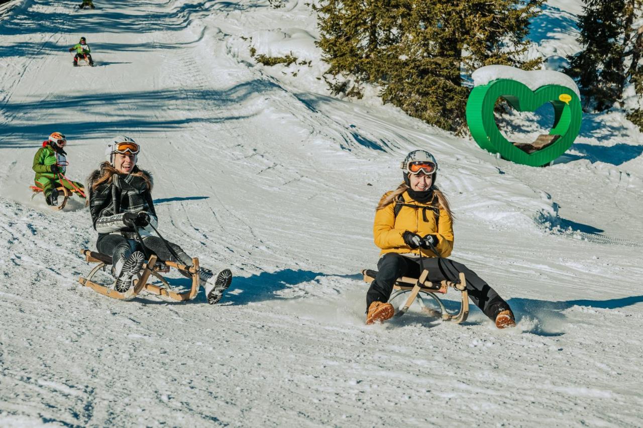
[[[554,128],[539,145],[514,145],[498,129],[493,109],[498,98],[507,100],[518,111],[536,111],[545,103],[554,106]],[[467,100],[467,125],[476,143],[485,150],[499,153],[504,159],[529,166],[550,163],[572,146],[581,129],[581,100],[570,88],[545,85],[532,91],[527,85],[511,79],[496,79],[473,88]],[[552,143],[553,140],[553,143]],[[519,148],[529,147],[529,152]]]

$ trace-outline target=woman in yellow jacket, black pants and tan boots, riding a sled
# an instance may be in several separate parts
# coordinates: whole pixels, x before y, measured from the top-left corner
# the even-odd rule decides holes
[[[464,272],[473,303],[498,328],[515,326],[509,304],[471,269],[447,258],[453,249],[453,215],[444,193],[435,186],[435,157],[424,150],[414,150],[401,167],[404,183],[385,193],[375,214],[373,235],[382,251],[377,278],[367,293],[367,324],[393,316],[395,310],[388,298],[397,278],[418,278],[422,270],[428,269],[428,280],[437,282],[455,281]]]

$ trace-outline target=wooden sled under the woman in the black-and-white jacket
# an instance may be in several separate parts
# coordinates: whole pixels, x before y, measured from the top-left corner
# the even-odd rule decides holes
[[[103,296],[107,296],[107,297],[110,297],[113,299],[119,299],[119,300],[131,300],[135,298],[136,295],[139,294],[142,290],[147,290],[147,292],[150,292],[156,296],[165,296],[170,299],[185,301],[185,300],[194,299],[197,293],[199,292],[199,259],[198,258],[193,258],[192,266],[188,267],[180,263],[174,263],[174,262],[168,262],[168,261],[162,262],[161,260],[157,260],[156,256],[152,254],[149,260],[147,260],[147,262],[141,268],[141,272],[138,274],[138,277],[133,281],[132,286],[129,287],[129,290],[127,290],[126,292],[118,292],[113,288],[115,281],[111,281],[111,283],[105,284],[105,285],[101,285],[92,281],[93,276],[96,274],[96,272],[98,272],[100,269],[104,269],[105,266],[112,264],[111,256],[107,256],[106,254],[96,253],[95,251],[90,251],[88,249],[83,249],[80,251],[80,253],[84,254],[85,260],[87,262],[98,263],[98,265],[96,265],[94,269],[92,269],[91,272],[89,272],[89,275],[87,275],[87,278],[83,278],[81,276],[78,279],[78,282],[80,282],[85,287],[89,287],[93,289],[95,292],[102,294]],[[178,293],[172,290],[172,287],[170,286],[168,281],[165,278],[163,278],[163,276],[161,275],[161,273],[169,272],[170,267],[179,269],[179,271],[185,271],[190,273],[190,275],[192,276],[192,287],[190,288],[190,290],[183,293]],[[156,279],[161,281],[161,285],[154,285],[154,284],[148,283],[147,280],[149,279],[150,275],[154,276]]]

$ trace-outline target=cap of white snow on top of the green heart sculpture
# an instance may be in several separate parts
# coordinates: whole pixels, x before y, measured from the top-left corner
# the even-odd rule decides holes
[[[561,85],[572,89],[578,98],[581,98],[581,93],[574,80],[559,71],[553,70],[534,70],[525,71],[516,67],[510,66],[485,66],[480,67],[471,75],[473,78],[473,85],[482,86],[497,79],[511,79],[527,85],[529,89],[535,91],[544,85]]]

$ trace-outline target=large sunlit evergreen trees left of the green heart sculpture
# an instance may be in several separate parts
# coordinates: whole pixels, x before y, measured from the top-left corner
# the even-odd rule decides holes
[[[463,73],[523,62],[543,0],[322,0],[315,10],[336,92],[379,85],[384,102],[448,130],[465,125]],[[349,84],[349,78],[352,84]]]

